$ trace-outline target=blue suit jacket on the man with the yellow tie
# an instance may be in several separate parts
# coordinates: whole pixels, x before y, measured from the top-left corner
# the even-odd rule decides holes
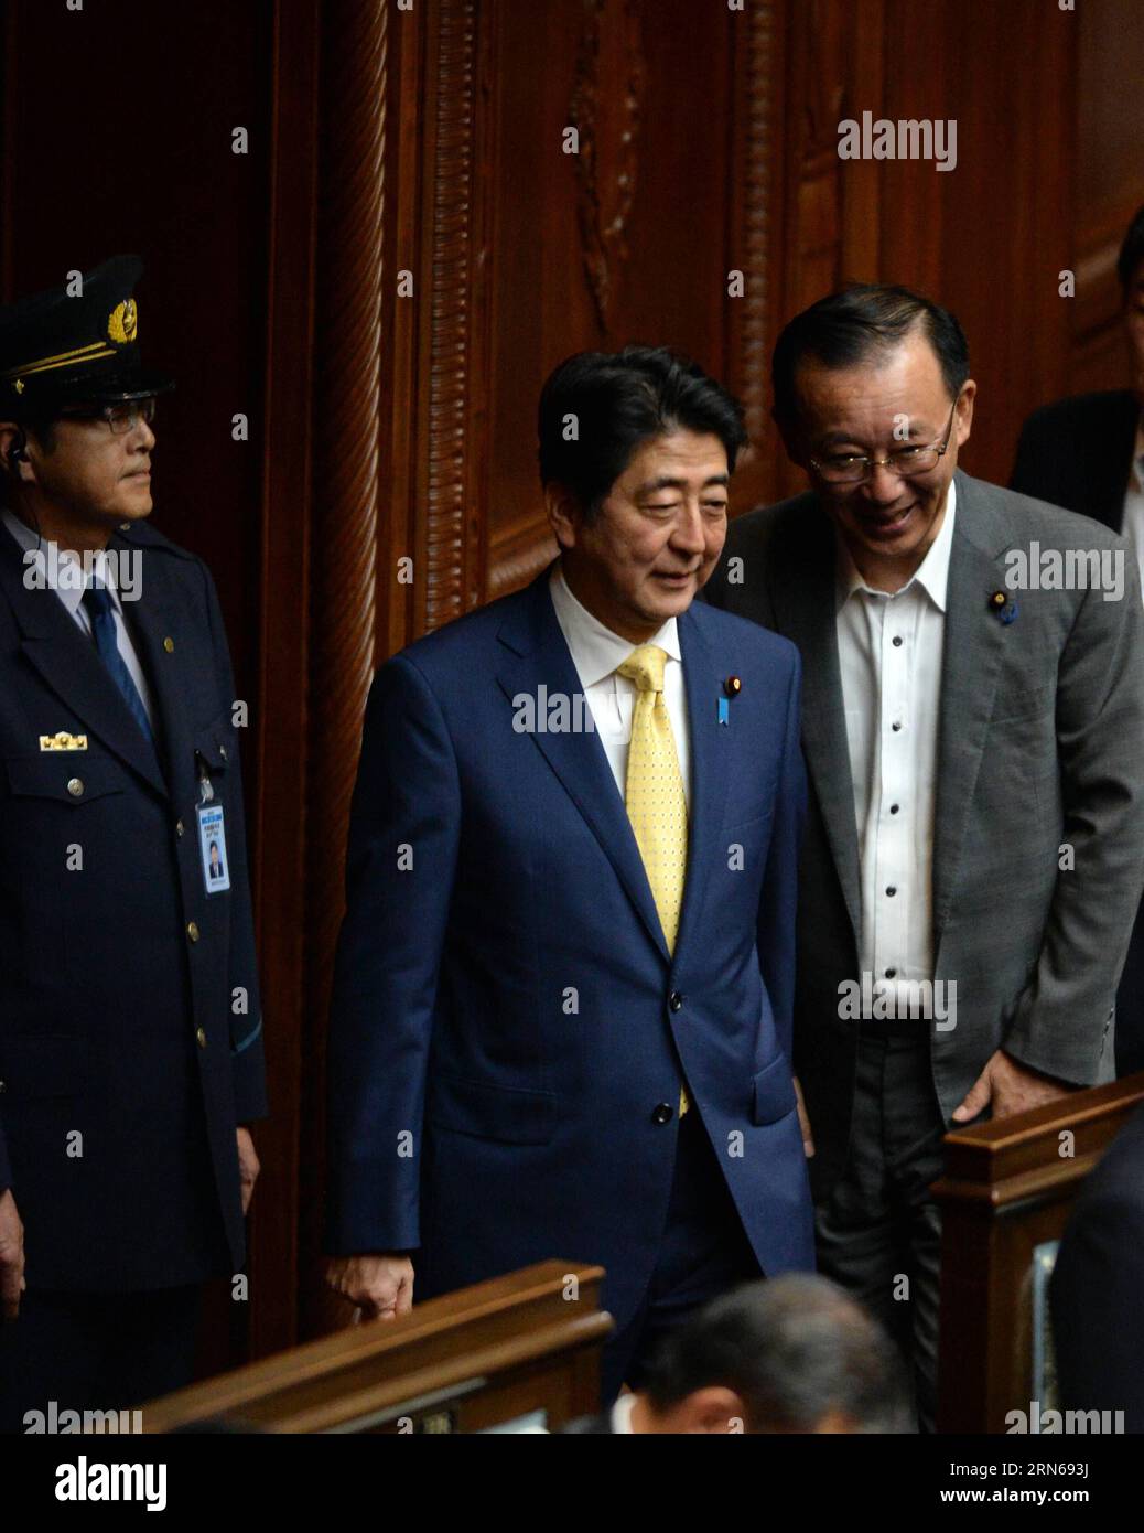
[[[680,1064],[766,1272],[813,1266],[790,1075],[806,802],[799,661],[753,624],[678,622],[688,881],[669,955],[548,576],[377,673],[329,1039],[329,1249],[417,1248],[417,1295],[599,1262],[617,1325],[663,1233]],[[726,699],[724,681],[741,691]],[[720,699],[729,719],[718,721]]]

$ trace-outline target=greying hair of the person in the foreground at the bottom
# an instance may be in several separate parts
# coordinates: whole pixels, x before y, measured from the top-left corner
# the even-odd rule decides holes
[[[858,1432],[907,1429],[897,1349],[835,1283],[789,1272],[747,1283],[669,1331],[646,1383],[655,1412],[723,1384],[747,1432],[812,1432],[839,1412]]]

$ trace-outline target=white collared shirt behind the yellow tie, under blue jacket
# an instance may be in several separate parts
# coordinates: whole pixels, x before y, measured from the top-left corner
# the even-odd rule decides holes
[[[599,618],[573,596],[564,572],[557,564],[548,581],[556,621],[571,652],[576,675],[580,678],[583,696],[591,711],[596,733],[608,756],[620,797],[625,794],[628,776],[628,747],[631,744],[631,714],[636,707],[636,682],[616,671],[632,650],[631,639],[606,629]],[[683,793],[691,805],[691,745],[688,737],[688,699],[683,687],[683,652],[674,618],[668,618],[660,632],[646,641],[666,650],[663,667],[663,702],[675,736],[675,754],[683,777]]]

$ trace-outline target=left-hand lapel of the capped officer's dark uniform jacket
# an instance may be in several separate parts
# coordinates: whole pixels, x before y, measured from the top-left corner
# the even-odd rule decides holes
[[[83,721],[98,739],[165,796],[167,785],[150,742],[127,710],[127,704],[75,621],[52,590],[29,590],[23,583],[23,555],[6,529],[0,529],[0,584],[21,632],[23,653],[44,684]],[[51,728],[51,721],[44,721]]]

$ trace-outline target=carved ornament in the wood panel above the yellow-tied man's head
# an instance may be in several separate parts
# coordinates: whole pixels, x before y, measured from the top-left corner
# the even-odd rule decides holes
[[[616,279],[628,259],[645,81],[632,0],[585,0],[568,112],[579,132],[576,213],[583,270],[605,331]]]

